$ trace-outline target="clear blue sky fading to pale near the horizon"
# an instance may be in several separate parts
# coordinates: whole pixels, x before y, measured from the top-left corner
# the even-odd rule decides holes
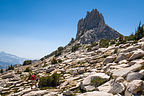
[[[144,22],[144,0],[0,0],[0,51],[39,59],[75,37],[92,9],[123,35]]]

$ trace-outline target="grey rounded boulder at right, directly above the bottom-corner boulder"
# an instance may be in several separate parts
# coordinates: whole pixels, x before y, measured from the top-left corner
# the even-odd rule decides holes
[[[132,72],[129,73],[126,77],[127,81],[133,81],[133,80],[140,80],[143,78],[143,75],[138,72]]]

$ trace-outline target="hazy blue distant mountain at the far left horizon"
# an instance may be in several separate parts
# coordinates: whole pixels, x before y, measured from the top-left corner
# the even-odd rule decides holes
[[[5,52],[0,52],[0,69],[9,65],[22,64],[25,58],[21,58]]]

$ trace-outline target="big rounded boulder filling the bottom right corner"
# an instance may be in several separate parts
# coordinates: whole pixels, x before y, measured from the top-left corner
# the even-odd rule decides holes
[[[132,96],[132,94],[136,95],[137,92],[142,91],[143,81],[142,80],[133,80],[127,85],[127,89],[125,91],[125,96]]]

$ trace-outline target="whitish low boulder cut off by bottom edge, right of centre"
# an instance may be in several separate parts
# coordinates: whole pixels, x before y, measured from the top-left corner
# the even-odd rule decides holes
[[[102,91],[93,91],[93,92],[86,92],[79,96],[113,96],[111,93],[102,92]]]

